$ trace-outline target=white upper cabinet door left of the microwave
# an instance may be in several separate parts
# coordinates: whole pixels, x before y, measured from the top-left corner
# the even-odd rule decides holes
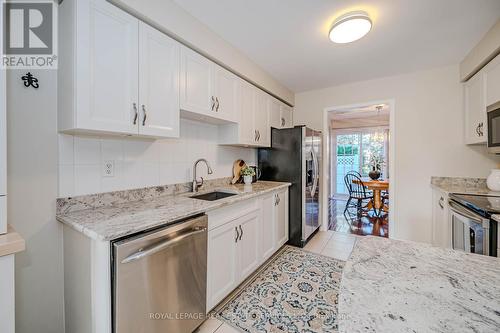
[[[465,143],[486,142],[485,77],[479,72],[464,84]]]

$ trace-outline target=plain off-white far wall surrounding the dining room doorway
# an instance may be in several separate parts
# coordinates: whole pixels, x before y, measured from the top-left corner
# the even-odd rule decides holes
[[[486,153],[484,146],[463,143],[463,91],[459,81],[457,65],[295,96],[295,124],[316,129],[323,128],[325,108],[395,100],[391,121],[395,121],[396,191],[391,196],[396,200],[396,230],[389,231],[391,237],[430,242],[431,176],[487,177],[499,162],[498,157]]]

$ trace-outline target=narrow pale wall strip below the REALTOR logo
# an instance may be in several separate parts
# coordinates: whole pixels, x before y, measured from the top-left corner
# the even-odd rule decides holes
[[[62,226],[57,196],[57,75],[32,70],[40,88],[7,71],[8,222],[26,240],[16,254],[16,332],[64,332]]]

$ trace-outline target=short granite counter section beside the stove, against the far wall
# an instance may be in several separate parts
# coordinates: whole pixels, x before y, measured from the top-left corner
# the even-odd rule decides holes
[[[484,178],[432,177],[432,188],[447,194],[470,194],[500,197],[500,192],[491,191]]]

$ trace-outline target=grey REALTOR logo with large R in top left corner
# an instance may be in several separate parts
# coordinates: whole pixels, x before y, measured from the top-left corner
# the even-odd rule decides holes
[[[56,6],[50,0],[2,1],[1,68],[57,68]]]

